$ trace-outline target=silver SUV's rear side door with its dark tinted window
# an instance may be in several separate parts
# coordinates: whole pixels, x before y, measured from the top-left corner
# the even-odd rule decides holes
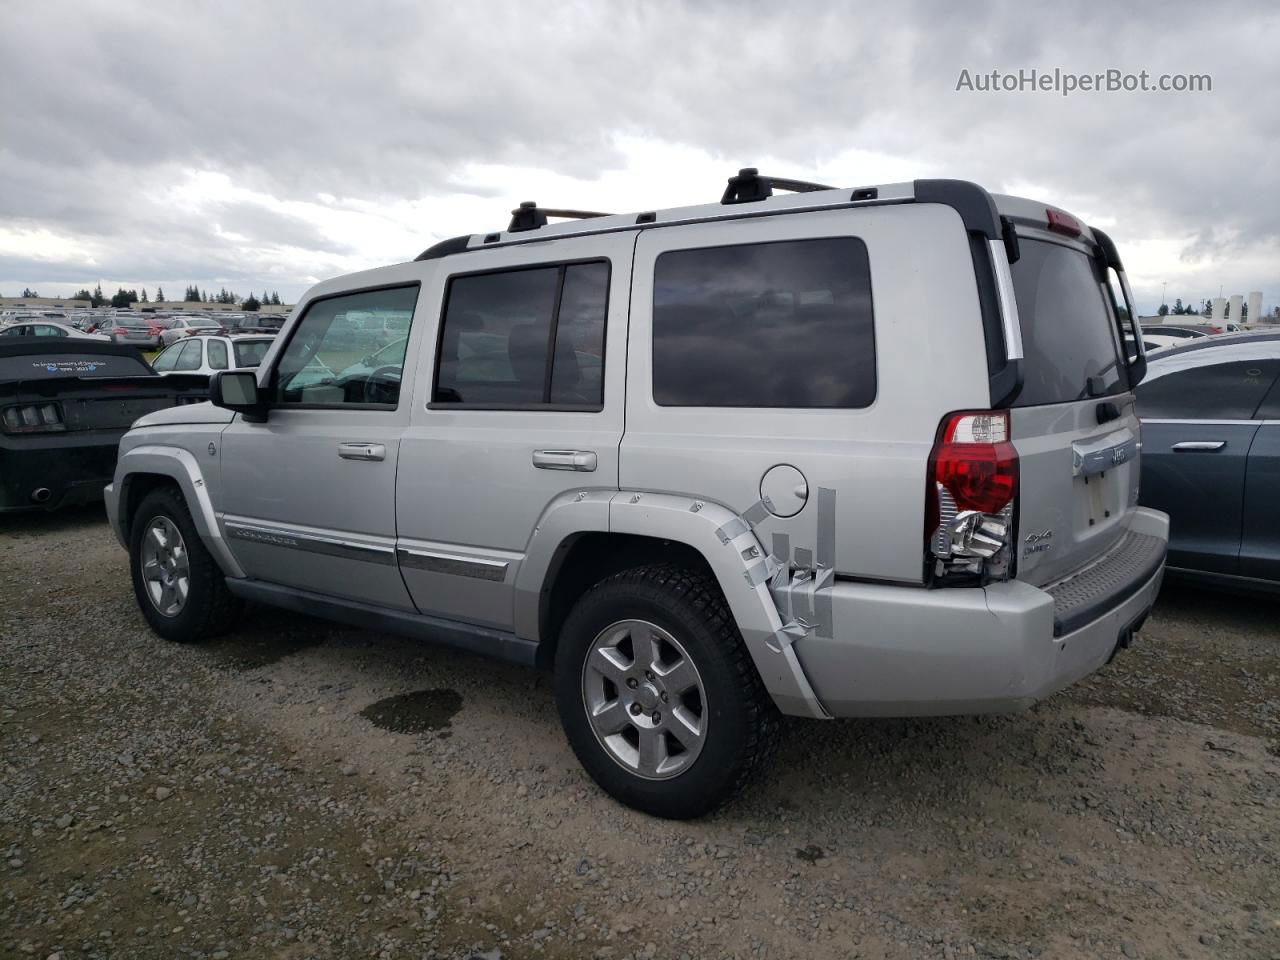
[[[509,630],[516,573],[547,507],[566,493],[617,489],[634,244],[618,234],[539,243],[536,253],[475,251],[442,261],[449,270],[424,291],[453,312],[430,317],[445,320],[430,333],[440,374],[429,348],[421,380],[433,399],[415,403],[399,452],[399,563],[422,613]],[[584,260],[608,262],[595,314],[603,344],[575,330],[570,279],[543,305],[556,287],[548,273]],[[512,273],[527,274],[527,287],[508,283]],[[472,283],[479,275],[493,279]],[[562,332],[577,337],[572,348]],[[593,404],[602,375],[603,404]]]

